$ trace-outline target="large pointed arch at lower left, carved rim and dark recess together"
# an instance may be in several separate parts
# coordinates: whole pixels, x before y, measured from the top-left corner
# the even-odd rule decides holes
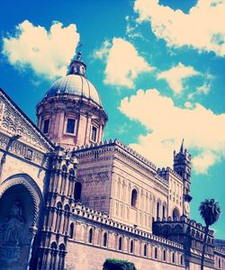
[[[13,175],[0,187],[0,261],[5,269],[30,264],[42,203],[39,188],[31,181],[28,175]]]

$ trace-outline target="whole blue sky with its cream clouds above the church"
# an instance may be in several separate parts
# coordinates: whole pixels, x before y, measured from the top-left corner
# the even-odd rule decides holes
[[[169,5],[167,5],[169,4]],[[225,238],[224,0],[10,1],[1,4],[1,87],[36,122],[35,106],[83,45],[86,75],[118,138],[172,166],[184,138],[193,157],[192,218],[220,202]]]

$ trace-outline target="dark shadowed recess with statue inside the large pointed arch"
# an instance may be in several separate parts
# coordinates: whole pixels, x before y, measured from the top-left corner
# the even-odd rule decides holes
[[[35,215],[30,191],[14,184],[0,198],[0,266],[25,270],[31,255],[31,228]]]

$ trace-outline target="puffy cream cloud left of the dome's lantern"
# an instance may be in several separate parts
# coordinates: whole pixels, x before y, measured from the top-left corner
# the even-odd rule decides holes
[[[75,54],[79,33],[75,24],[63,27],[52,23],[49,31],[24,21],[16,26],[15,35],[3,39],[3,54],[19,69],[31,67],[41,76],[64,76]]]

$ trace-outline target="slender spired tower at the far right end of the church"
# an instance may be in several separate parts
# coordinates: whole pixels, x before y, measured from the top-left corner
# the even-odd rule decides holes
[[[191,155],[188,153],[187,149],[184,148],[184,139],[181,143],[181,148],[178,153],[174,151],[174,171],[181,175],[183,178],[184,184],[184,200],[183,200],[183,208],[184,215],[189,216],[189,202],[192,201],[191,196],[191,171],[192,171],[192,163],[191,163]]]

